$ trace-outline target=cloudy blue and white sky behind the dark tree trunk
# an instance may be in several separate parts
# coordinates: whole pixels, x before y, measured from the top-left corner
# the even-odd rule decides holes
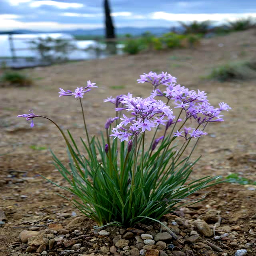
[[[109,0],[116,27],[172,27],[177,21],[256,18],[255,0]],[[0,0],[0,30],[104,27],[103,0]]]

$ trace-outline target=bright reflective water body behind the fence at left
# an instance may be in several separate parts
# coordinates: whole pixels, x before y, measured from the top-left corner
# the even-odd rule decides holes
[[[68,40],[75,48],[65,56],[68,60],[102,59],[109,56],[105,44],[94,40],[77,41],[73,36],[65,33],[15,34],[12,35],[12,42],[9,40],[9,35],[0,35],[0,65],[12,68],[49,65],[49,62],[41,60],[37,50],[31,49],[33,47],[31,41],[39,37]],[[122,45],[117,45],[116,54],[122,54]],[[55,56],[55,53],[51,52],[51,55]]]

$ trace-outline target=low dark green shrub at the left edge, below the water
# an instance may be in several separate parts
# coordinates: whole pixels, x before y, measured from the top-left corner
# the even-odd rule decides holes
[[[30,86],[33,84],[32,79],[16,71],[5,71],[0,80],[3,85]]]

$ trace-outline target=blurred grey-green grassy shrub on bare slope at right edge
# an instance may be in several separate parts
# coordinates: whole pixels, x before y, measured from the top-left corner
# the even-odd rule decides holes
[[[229,62],[217,68],[213,68],[209,79],[219,80],[221,82],[229,80],[246,80],[256,77],[255,61],[237,61]]]

